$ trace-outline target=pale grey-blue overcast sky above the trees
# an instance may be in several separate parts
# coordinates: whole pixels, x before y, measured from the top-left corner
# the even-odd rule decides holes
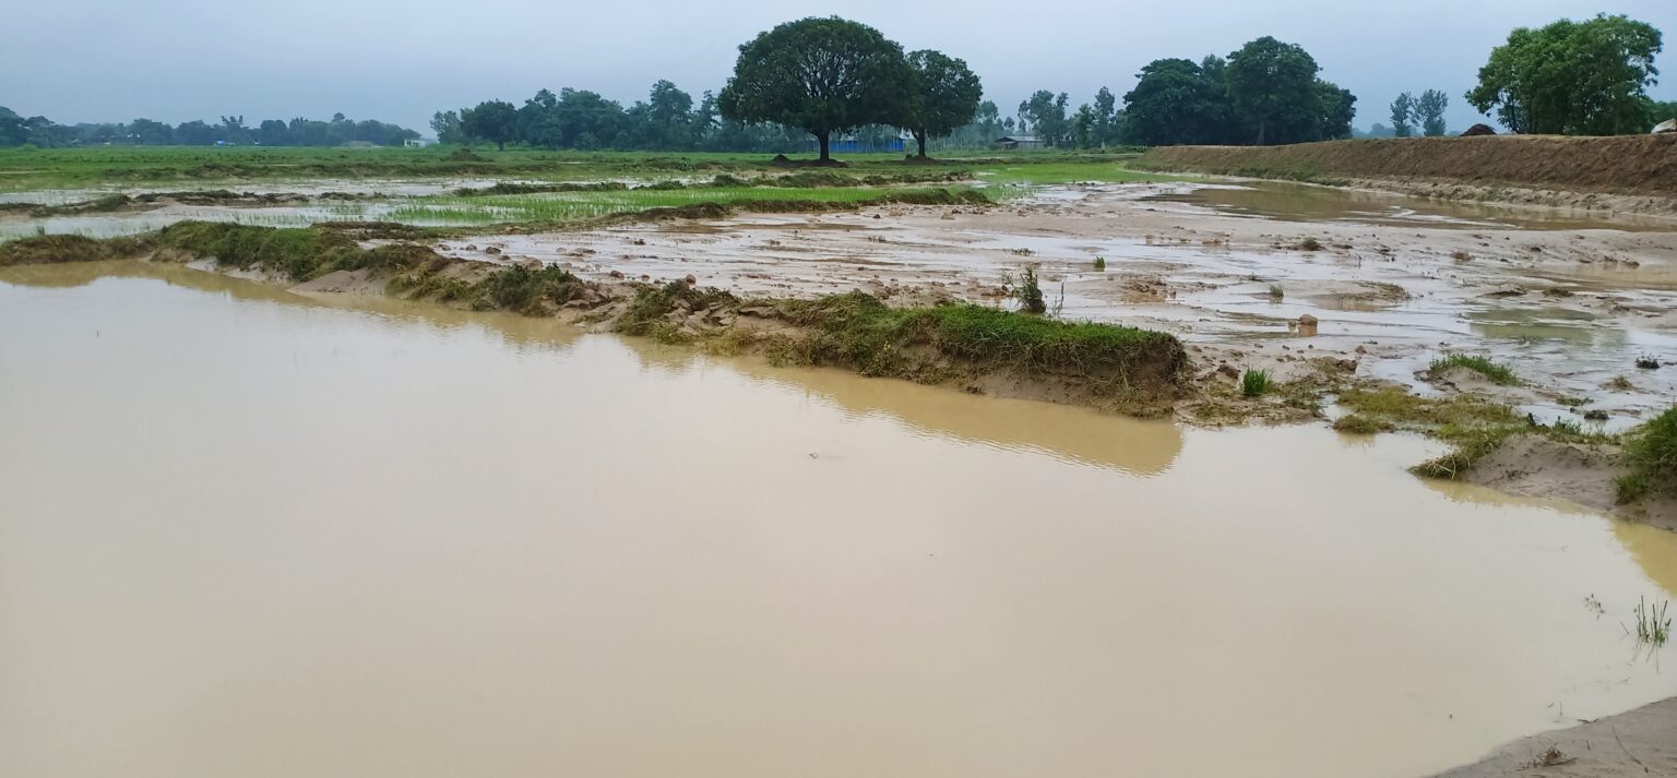
[[[1387,122],[1397,92],[1444,89],[1462,129],[1481,117],[1461,96],[1511,29],[1598,12],[1674,37],[1659,62],[1670,79],[1654,96],[1677,99],[1677,0],[37,0],[10,3],[0,22],[0,106],[65,124],[340,111],[429,134],[434,111],[522,104],[542,87],[629,104],[669,79],[698,99],[760,30],[835,12],[907,50],[966,59],[1005,116],[1036,89],[1070,92],[1073,107],[1102,86],[1122,99],[1149,60],[1275,35],[1357,94],[1358,127]]]

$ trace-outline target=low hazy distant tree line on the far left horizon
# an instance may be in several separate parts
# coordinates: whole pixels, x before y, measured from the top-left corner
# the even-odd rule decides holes
[[[119,124],[57,124],[45,116],[22,117],[0,106],[0,146],[34,144],[42,148],[67,146],[342,146],[345,143],[371,143],[374,146],[401,146],[418,139],[419,132],[381,121],[350,121],[344,114],[332,121],[268,119],[255,127],[245,126],[243,116],[223,116],[216,124],[190,121],[164,124],[151,119],[134,119]]]

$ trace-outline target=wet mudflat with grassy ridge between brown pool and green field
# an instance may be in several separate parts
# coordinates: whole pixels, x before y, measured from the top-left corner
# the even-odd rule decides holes
[[[1201,426],[1335,418],[1347,397],[1363,396],[1353,411],[1365,424],[1348,431],[1409,429],[1477,446],[1523,433],[1568,438],[1563,423],[1598,416],[1628,429],[1669,407],[1662,386],[1672,371],[1620,376],[1627,350],[1660,344],[1669,324],[1662,287],[1620,288],[1664,272],[1664,233],[1591,230],[1558,245],[1555,233],[1481,225],[1275,223],[1155,210],[1169,205],[1147,200],[1157,191],[1075,188],[1010,208],[672,210],[597,230],[456,240],[376,223],[200,223],[163,230],[151,243],[67,238],[77,245],[52,250],[47,243],[60,238],[32,238],[0,253],[215,257],[225,272],[309,293],[552,315],[713,354],[1137,416],[1174,412]],[[1308,243],[1316,248],[1301,248]],[[1092,270],[1097,257],[1112,265]],[[1632,270],[1623,282],[1580,282],[1580,265]],[[1003,310],[1010,273],[1023,267],[1043,273],[1067,319],[1107,325]],[[1528,310],[1538,319],[1523,319]],[[1300,324],[1318,317],[1308,330]],[[1472,324],[1452,324],[1459,317]],[[1585,325],[1633,335],[1603,340],[1576,329]],[[1160,332],[1169,335],[1154,339]],[[1508,359],[1518,384],[1424,369],[1464,347]],[[1246,371],[1266,371],[1271,387],[1246,396]],[[1479,481],[1484,473],[1493,469],[1451,469],[1521,491],[1511,478]],[[1595,481],[1568,481],[1578,493],[1543,496],[1617,510],[1593,496],[1613,491],[1615,471],[1590,475]]]

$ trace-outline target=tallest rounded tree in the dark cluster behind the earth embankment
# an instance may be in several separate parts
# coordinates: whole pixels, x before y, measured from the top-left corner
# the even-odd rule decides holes
[[[1229,55],[1228,91],[1253,143],[1311,141],[1320,126],[1316,65],[1298,44],[1261,37]]]

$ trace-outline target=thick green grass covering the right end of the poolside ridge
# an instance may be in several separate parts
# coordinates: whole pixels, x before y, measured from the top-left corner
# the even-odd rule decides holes
[[[1135,387],[1176,382],[1187,364],[1182,344],[1164,332],[984,305],[892,309],[862,292],[780,305],[810,334],[781,344],[771,354],[776,360],[844,366],[865,376],[941,381],[964,366]]]

